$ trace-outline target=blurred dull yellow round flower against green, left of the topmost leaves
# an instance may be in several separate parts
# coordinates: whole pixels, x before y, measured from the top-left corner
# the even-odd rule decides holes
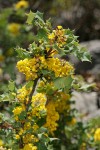
[[[9,32],[11,32],[13,35],[16,36],[20,33],[19,32],[20,27],[21,27],[21,25],[18,24],[18,23],[11,23],[11,24],[8,25],[7,29],[8,29]]]

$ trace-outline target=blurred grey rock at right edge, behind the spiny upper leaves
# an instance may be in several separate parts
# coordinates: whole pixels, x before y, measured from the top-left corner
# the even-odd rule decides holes
[[[92,56],[92,62],[81,62],[74,56],[70,57],[70,60],[75,64],[76,72],[81,73],[89,71],[93,75],[100,75],[100,40],[92,40],[88,42],[80,43],[86,47]]]

